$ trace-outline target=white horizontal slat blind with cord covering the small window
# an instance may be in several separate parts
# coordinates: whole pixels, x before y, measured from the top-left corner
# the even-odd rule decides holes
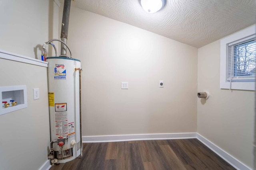
[[[226,78],[232,82],[255,82],[255,34],[227,44]]]

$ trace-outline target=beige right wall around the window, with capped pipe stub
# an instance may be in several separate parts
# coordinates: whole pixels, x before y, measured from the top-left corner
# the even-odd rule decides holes
[[[197,132],[253,167],[254,91],[220,89],[220,40],[198,49]]]

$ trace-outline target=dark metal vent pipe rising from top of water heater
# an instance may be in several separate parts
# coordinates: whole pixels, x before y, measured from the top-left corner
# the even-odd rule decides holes
[[[61,41],[63,41],[66,44],[68,41],[68,23],[69,23],[70,6],[71,6],[71,0],[65,0],[64,8],[63,8],[60,38],[61,38]],[[67,47],[63,43],[61,43],[61,46],[60,46],[60,56],[68,57],[67,56]]]

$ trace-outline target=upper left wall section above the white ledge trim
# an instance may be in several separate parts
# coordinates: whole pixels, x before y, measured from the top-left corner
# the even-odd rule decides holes
[[[42,44],[58,38],[56,10],[53,0],[2,0],[0,49],[41,60]]]

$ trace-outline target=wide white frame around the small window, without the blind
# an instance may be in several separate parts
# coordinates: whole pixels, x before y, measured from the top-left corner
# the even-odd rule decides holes
[[[228,44],[239,41],[256,33],[256,25],[252,25],[242,31],[234,33],[220,40],[220,88],[230,89],[230,82],[227,81],[227,60]],[[231,89],[234,90],[255,90],[255,82],[231,82]]]

